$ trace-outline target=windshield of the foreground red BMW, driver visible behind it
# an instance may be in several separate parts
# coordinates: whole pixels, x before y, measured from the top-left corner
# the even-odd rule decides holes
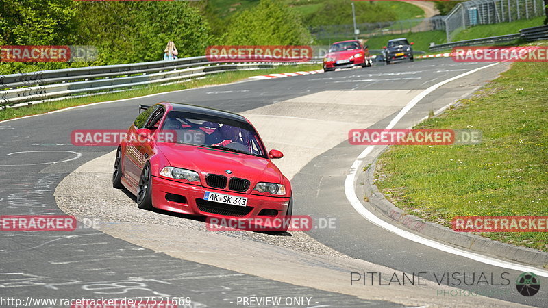
[[[218,116],[171,111],[161,129],[166,142],[219,148],[265,157],[264,146],[249,123]]]

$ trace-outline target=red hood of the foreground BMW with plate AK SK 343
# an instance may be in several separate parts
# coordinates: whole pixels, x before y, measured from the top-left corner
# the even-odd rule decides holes
[[[270,159],[188,144],[159,143],[157,146],[171,166],[194,170],[203,176],[214,173],[249,179],[251,183],[283,183],[282,172]],[[232,173],[228,175],[226,170]]]

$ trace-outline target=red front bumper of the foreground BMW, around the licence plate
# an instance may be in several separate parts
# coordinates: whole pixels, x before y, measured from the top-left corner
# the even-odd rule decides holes
[[[247,198],[247,206],[242,207],[205,201],[203,200],[203,196],[206,191]],[[178,181],[171,181],[162,177],[152,177],[153,207],[177,213],[216,218],[234,218],[236,220],[284,218],[288,211],[289,201],[290,198],[242,194],[240,192],[217,190],[200,185],[179,183]]]

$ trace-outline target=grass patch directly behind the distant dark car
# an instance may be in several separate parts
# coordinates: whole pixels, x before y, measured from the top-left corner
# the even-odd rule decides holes
[[[375,36],[367,39],[366,43],[370,49],[382,49],[386,46],[388,40],[393,38],[407,38],[409,42],[414,42],[413,49],[428,51],[430,42],[441,44],[445,42],[445,31],[425,31],[408,34],[390,34],[387,36]]]

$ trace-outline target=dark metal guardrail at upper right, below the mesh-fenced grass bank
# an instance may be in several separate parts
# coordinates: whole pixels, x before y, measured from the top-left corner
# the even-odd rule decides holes
[[[490,36],[488,38],[475,38],[473,40],[460,40],[458,42],[432,45],[429,47],[429,51],[443,51],[460,46],[503,44],[508,42],[514,42],[515,40],[519,39],[527,40],[527,42],[534,42],[536,40],[548,40],[548,25],[521,29],[519,30],[519,33],[508,34],[506,36]]]

